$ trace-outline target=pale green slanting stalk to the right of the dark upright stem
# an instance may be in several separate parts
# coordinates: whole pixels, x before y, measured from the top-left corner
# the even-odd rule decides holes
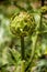
[[[33,49],[33,51],[32,51],[32,58],[31,58],[31,60],[30,60],[28,65],[27,65],[26,69],[25,69],[25,72],[28,70],[30,66],[32,66],[33,59],[34,59],[34,55],[35,55],[35,50],[36,50],[37,40],[38,40],[38,34],[36,34],[36,37],[35,37],[35,41],[34,41],[33,48],[32,48],[32,49]]]

